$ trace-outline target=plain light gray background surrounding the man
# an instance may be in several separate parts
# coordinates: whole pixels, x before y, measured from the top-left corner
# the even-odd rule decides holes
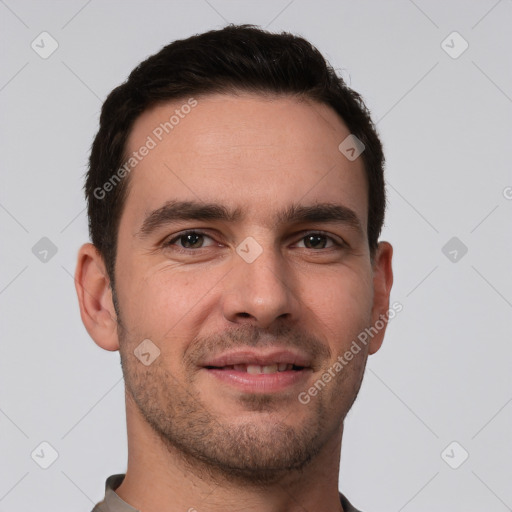
[[[510,0],[0,0],[0,16],[0,512],[89,512],[126,470],[119,354],[88,337],[72,277],[88,151],[136,64],[226,22],[311,40],[385,145],[403,311],[347,418],[340,489],[365,512],[512,510]],[[59,44],[48,59],[31,48],[42,31]],[[456,59],[453,31],[469,43]],[[46,263],[42,237],[58,248]],[[31,458],[43,441],[48,469]]]

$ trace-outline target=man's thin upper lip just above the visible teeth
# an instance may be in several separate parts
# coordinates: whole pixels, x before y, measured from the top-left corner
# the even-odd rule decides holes
[[[208,359],[204,363],[201,363],[200,366],[203,368],[222,368],[224,366],[233,366],[235,364],[255,364],[259,366],[267,366],[279,363],[293,364],[303,368],[310,368],[311,358],[301,352],[276,348],[266,352],[256,352],[254,350],[236,350],[225,352],[217,357]]]

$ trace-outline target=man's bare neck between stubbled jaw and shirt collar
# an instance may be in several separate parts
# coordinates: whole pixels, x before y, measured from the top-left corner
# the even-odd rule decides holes
[[[343,427],[300,470],[265,484],[234,480],[218,469],[185,456],[147,424],[126,393],[128,468],[116,493],[144,512],[208,510],[225,512],[341,511],[338,474]]]

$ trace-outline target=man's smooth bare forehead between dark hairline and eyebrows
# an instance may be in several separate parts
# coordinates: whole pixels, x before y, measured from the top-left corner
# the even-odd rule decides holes
[[[330,202],[354,210],[366,229],[363,161],[338,149],[349,134],[328,106],[292,97],[216,94],[154,106],[127,142],[138,160],[123,218],[140,224],[177,199],[243,208],[268,225],[291,204]]]

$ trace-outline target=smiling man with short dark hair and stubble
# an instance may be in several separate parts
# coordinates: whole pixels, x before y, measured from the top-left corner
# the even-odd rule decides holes
[[[388,318],[383,162],[359,95],[290,34],[176,41],[109,95],[76,288],[120,351],[128,467],[95,512],[356,510],[338,473]]]

